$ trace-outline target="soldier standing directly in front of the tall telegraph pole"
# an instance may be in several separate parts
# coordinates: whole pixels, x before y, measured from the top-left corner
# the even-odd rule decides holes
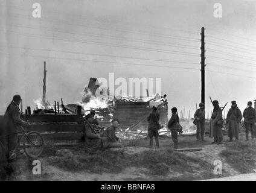
[[[205,134],[205,105],[203,103],[199,104],[200,109],[197,109],[194,113],[194,119],[196,120],[196,141],[200,139],[203,140]]]

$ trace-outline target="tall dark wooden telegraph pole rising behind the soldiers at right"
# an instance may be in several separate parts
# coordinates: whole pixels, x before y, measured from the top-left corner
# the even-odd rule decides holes
[[[201,29],[201,102],[205,104],[205,28]]]

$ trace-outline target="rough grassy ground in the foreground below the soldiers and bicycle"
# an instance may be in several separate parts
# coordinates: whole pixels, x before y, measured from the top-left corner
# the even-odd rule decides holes
[[[179,136],[179,148],[202,148],[202,151],[187,153],[173,151],[173,142],[166,137],[160,138],[159,150],[150,150],[147,139],[124,141],[122,151],[108,150],[95,155],[89,155],[81,148],[70,148],[69,154],[62,156],[46,148],[39,158],[41,175],[32,174],[31,160],[22,156],[13,163],[14,172],[7,180],[205,180],[243,173],[232,160],[222,155],[230,149],[226,137],[222,145],[211,145],[210,138],[205,140]],[[256,144],[251,141],[240,143]],[[222,175],[213,174],[214,160],[222,161]]]

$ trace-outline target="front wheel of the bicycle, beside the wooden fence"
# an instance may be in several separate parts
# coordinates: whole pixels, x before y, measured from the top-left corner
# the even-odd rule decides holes
[[[43,151],[43,138],[37,131],[30,131],[24,136],[23,149],[30,158],[39,157]]]

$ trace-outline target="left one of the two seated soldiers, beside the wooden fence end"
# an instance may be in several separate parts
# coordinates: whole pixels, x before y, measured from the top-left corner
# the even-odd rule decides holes
[[[94,130],[93,122],[94,117],[92,115],[87,116],[85,124],[85,150],[92,154],[102,148],[101,136]]]

